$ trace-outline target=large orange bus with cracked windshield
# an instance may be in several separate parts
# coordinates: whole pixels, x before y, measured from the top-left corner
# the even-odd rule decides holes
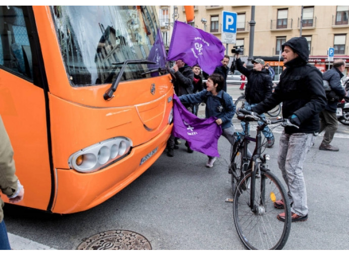
[[[0,7],[0,114],[20,205],[89,209],[161,155],[173,87],[148,60],[158,28],[148,6]]]

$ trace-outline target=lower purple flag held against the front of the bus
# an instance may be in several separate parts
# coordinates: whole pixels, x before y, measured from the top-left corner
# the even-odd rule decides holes
[[[219,157],[218,139],[222,127],[217,125],[216,117],[198,118],[189,112],[180,99],[173,95],[173,129],[172,135],[186,140],[191,149],[211,157]]]

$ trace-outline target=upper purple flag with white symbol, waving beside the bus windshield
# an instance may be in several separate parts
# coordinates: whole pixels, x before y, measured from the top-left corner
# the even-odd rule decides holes
[[[204,72],[211,74],[221,64],[225,50],[219,38],[177,20],[167,59],[182,59],[189,66],[198,64]]]

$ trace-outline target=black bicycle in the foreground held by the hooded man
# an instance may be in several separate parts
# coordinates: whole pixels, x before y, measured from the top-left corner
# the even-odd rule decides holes
[[[262,121],[263,124],[257,126],[255,139],[245,135],[232,146],[231,172],[232,179],[236,181],[236,184],[232,182],[235,186],[234,224],[241,241],[248,249],[282,249],[291,230],[291,208],[285,188],[268,169],[267,161],[270,156],[261,156],[260,133],[268,124],[280,122],[283,126],[295,125],[288,119],[270,121],[245,109],[239,111],[241,114],[238,115],[238,119],[245,122]],[[250,141],[255,142],[255,148],[251,157],[248,157],[247,145]],[[278,199],[283,199],[283,209],[274,206]],[[277,215],[282,212],[286,216],[285,222],[277,219]]]

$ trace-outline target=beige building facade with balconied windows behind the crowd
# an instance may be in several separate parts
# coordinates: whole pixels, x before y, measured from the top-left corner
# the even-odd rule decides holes
[[[254,40],[251,41],[249,21],[251,6],[194,6],[195,18],[190,25],[200,28],[221,39],[222,12],[237,13],[236,45],[225,45],[229,56],[234,46],[244,46],[242,59],[248,56],[263,58],[274,68],[282,69],[279,60],[281,45],[295,36],[304,36],[310,50],[309,63],[321,71],[331,67],[328,49],[334,48],[334,59],[344,59],[345,74],[349,66],[349,6],[255,6]],[[167,13],[164,10],[168,10]],[[186,22],[184,6],[160,6],[159,19],[165,17],[161,26],[169,47],[172,24],[175,20]],[[174,14],[174,15],[173,15]],[[253,53],[249,53],[253,44]]]

